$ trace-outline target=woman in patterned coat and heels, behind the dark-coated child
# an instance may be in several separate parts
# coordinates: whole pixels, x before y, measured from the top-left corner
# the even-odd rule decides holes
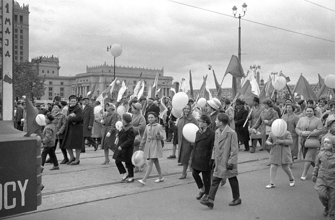
[[[102,139],[100,149],[104,149],[105,161],[102,165],[108,164],[109,160],[109,150],[115,152],[115,135],[116,135],[116,127],[115,124],[118,121],[118,114],[115,112],[115,106],[111,102],[107,102],[105,105],[106,112],[104,116],[104,128],[102,130]]]

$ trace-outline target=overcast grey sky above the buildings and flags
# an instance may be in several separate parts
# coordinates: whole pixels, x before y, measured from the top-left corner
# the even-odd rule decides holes
[[[208,74],[214,88],[211,63],[222,80],[231,55],[238,56],[239,20],[232,14],[240,0],[19,0],[29,4],[29,59],[59,57],[60,75],[86,72],[86,65],[106,62],[113,56],[107,45],[123,47],[116,64],[148,68],[164,67],[164,75],[189,80],[199,88]],[[317,6],[310,2],[319,4]],[[333,0],[246,0],[243,19],[335,41]],[[218,13],[226,14],[218,14]],[[295,83],[300,75],[310,83],[334,73],[335,42],[296,34],[241,19],[242,66],[260,65],[267,80],[272,71],[283,71]],[[231,87],[230,74],[222,87]]]

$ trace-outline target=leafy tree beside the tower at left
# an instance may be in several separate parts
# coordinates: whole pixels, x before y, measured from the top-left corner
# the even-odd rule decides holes
[[[29,95],[29,98],[35,100],[45,93],[45,78],[40,76],[33,68],[31,62],[14,63],[14,87],[16,96],[22,97]]]

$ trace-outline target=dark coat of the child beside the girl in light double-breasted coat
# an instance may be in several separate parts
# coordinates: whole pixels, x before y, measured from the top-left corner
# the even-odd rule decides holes
[[[119,133],[119,143],[116,147],[113,159],[131,163],[133,156],[135,134],[132,124],[125,125]],[[118,149],[121,147],[121,151]]]

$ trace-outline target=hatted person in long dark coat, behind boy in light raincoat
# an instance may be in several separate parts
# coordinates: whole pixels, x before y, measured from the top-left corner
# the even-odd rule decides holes
[[[235,112],[235,131],[237,134],[238,141],[244,143],[244,151],[249,151],[249,131],[248,131],[248,126],[249,122],[247,122],[246,126],[243,127],[244,123],[247,120],[248,117],[248,111],[244,108],[245,102],[242,100],[237,100],[236,101],[236,108],[237,111]]]

